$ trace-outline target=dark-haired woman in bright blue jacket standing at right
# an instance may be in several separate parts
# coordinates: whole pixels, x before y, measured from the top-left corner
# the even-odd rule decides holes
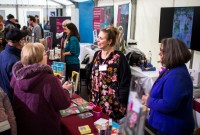
[[[166,69],[149,94],[148,123],[157,135],[191,135],[194,130],[193,85],[185,65],[191,53],[183,41],[167,38],[161,42],[159,56]]]

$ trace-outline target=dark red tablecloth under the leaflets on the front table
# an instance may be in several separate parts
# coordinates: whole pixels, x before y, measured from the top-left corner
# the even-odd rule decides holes
[[[80,96],[75,94],[72,96],[72,99],[77,98],[77,97],[80,97]],[[104,119],[109,119],[109,117],[103,113],[102,113],[101,117]],[[63,131],[64,135],[80,135],[78,126],[89,125],[92,133],[97,135],[98,132],[94,126],[95,121],[96,121],[96,119],[94,119],[93,117],[81,119],[76,114],[70,115],[67,117],[63,117],[63,118],[61,118],[62,131]]]

